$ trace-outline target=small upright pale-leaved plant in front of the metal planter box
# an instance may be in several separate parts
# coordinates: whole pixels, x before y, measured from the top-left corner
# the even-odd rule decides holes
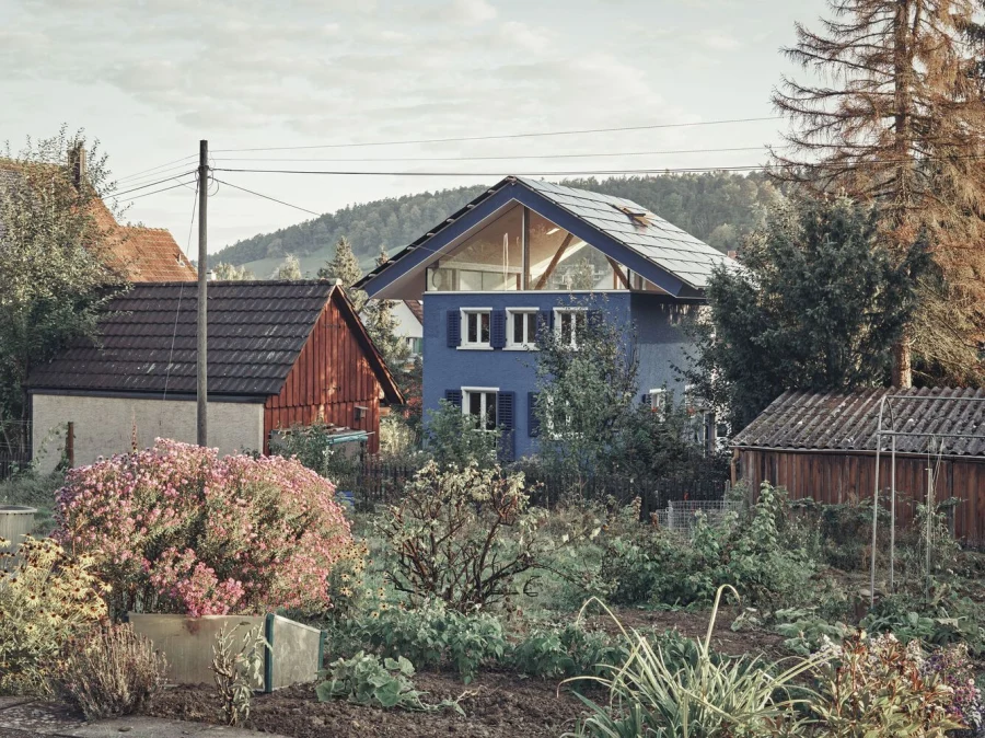
[[[235,632],[243,626],[247,627],[237,643]],[[251,629],[248,623],[234,625],[229,632],[225,625],[219,630],[209,669],[216,674],[227,725],[243,725],[250,717],[254,685],[262,683],[264,649],[269,647],[260,629]]]

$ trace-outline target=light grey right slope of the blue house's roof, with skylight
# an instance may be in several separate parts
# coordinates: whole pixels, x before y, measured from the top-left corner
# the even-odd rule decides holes
[[[711,270],[730,263],[726,254],[633,200],[529,177],[517,181],[692,287],[707,287]]]

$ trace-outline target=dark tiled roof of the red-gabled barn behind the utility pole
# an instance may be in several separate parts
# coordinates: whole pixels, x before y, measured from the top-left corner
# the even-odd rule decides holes
[[[209,282],[209,395],[280,392],[329,299],[366,350],[390,402],[403,396],[345,291],[325,280]],[[112,300],[101,346],[76,341],[35,368],[32,390],[194,394],[198,299],[195,285],[144,282]]]

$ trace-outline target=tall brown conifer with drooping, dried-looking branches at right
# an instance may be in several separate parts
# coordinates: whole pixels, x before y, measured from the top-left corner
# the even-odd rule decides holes
[[[892,381],[981,379],[985,321],[985,97],[973,0],[828,0],[818,32],[785,49],[814,82],[774,92],[791,119],[776,174],[814,194],[873,204],[879,241],[900,268],[925,239],[936,269],[894,347]]]

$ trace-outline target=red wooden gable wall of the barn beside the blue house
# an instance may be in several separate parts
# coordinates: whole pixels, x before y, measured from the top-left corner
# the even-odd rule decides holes
[[[333,297],[325,304],[280,394],[267,399],[265,445],[273,430],[322,418],[337,426],[368,430],[369,450],[379,450],[382,390],[356,326],[339,311],[336,299]],[[359,420],[357,405],[367,408]]]

